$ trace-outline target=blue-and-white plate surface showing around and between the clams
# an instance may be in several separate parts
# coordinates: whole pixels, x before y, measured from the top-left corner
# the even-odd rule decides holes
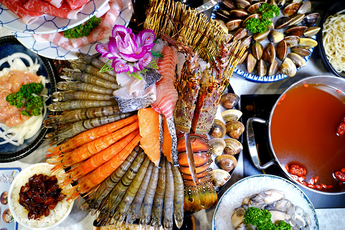
[[[305,0],[303,0],[303,2],[305,2]],[[216,18],[216,14],[215,14],[215,11],[218,11],[220,9],[221,5],[220,4],[217,4],[213,10],[212,10],[212,13],[211,13],[211,19],[215,19]],[[280,10],[280,17],[283,16],[283,14],[281,13],[282,11]],[[273,22],[275,23],[275,21],[278,19],[278,18],[273,18]],[[300,23],[298,23],[298,25],[300,25]],[[315,26],[315,24],[314,24]],[[277,31],[279,32],[284,32],[287,28],[283,28],[283,29],[279,29]],[[234,31],[231,31],[231,32],[234,32]],[[251,33],[251,32],[250,32]],[[312,39],[316,40],[316,35],[312,36],[311,37]],[[266,44],[268,43],[268,39],[264,39],[263,41],[261,41],[260,43],[262,44],[263,48],[266,47]],[[276,44],[273,43],[274,46],[276,46]],[[289,53],[289,50],[290,48],[288,48],[288,52]],[[312,55],[313,53],[313,50],[314,50],[314,47],[309,49],[309,51],[311,52],[311,54],[309,56],[306,56],[306,57],[303,57],[304,61],[307,62],[307,60],[310,58],[310,56]],[[282,61],[280,61],[279,59],[276,59],[277,62],[278,62],[278,66],[280,66],[280,64],[282,63]],[[244,62],[245,63],[245,62]],[[276,75],[273,75],[273,76],[258,76],[256,75],[255,73],[255,70],[252,72],[252,73],[248,73],[246,67],[245,67],[245,64],[240,64],[238,65],[237,67],[235,67],[234,69],[234,74],[236,74],[237,76],[240,76],[240,77],[243,77],[245,78],[246,80],[248,81],[252,81],[252,82],[257,82],[257,83],[268,83],[268,82],[274,82],[274,81],[279,81],[279,80],[282,80],[282,79],[285,79],[285,78],[288,78],[288,76],[286,74],[282,74],[280,72],[278,72],[278,74]],[[265,63],[266,64],[266,63]],[[303,68],[303,67],[302,67]],[[268,69],[268,66],[267,66],[267,69]],[[299,70],[300,68],[297,68],[297,71]]]

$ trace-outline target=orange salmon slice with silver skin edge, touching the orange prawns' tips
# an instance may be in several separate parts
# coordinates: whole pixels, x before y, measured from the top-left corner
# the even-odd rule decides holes
[[[162,124],[159,123],[160,117],[160,114],[152,108],[139,109],[138,111],[139,131],[141,136],[140,147],[157,167],[159,165],[161,152],[159,145],[159,127],[162,127]]]

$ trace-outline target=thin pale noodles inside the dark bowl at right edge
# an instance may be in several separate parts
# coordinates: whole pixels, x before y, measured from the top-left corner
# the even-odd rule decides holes
[[[341,14],[344,11],[329,16],[322,30],[326,57],[338,73],[345,71],[345,14]]]

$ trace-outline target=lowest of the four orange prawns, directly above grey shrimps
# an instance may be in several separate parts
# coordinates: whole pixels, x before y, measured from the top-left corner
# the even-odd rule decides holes
[[[79,194],[92,191],[98,186],[98,184],[110,176],[110,174],[114,172],[127,158],[134,147],[137,146],[140,138],[140,134],[137,134],[137,136],[135,136],[135,138],[131,141],[131,144],[128,144],[115,157],[111,158],[109,161],[96,168],[93,172],[89,173],[77,185],[73,186],[72,188],[63,189],[62,193],[70,194],[70,197],[67,199],[67,201],[72,202],[79,196]],[[65,185],[67,184],[63,184],[62,187]]]

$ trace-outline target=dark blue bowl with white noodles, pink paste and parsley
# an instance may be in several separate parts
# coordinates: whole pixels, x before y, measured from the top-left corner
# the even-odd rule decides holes
[[[55,92],[54,71],[47,58],[13,36],[0,38],[0,162],[21,159],[40,146]]]

